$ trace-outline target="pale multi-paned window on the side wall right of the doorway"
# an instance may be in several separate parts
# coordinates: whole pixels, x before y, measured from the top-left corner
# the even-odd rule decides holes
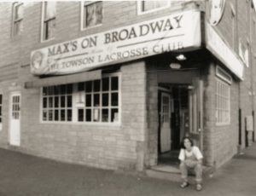
[[[230,85],[216,78],[216,123],[230,124]]]

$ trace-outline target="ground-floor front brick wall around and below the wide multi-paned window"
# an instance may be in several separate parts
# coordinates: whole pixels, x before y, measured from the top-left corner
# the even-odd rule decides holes
[[[126,64],[120,72],[121,125],[40,123],[40,89],[22,89],[20,151],[104,169],[143,170],[145,66]],[[1,147],[7,147],[8,130],[2,134]]]

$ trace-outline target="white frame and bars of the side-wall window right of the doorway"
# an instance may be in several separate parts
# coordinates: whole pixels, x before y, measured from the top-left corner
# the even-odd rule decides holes
[[[230,125],[231,123],[231,97],[230,97],[230,92],[231,92],[231,86],[228,84],[226,81],[224,81],[222,78],[216,77],[216,88],[215,88],[215,122],[217,126],[223,126],[223,125]],[[223,89],[225,92],[228,92],[228,96],[224,96],[222,94],[218,94],[221,89],[218,89],[218,84],[223,85],[223,87],[228,88],[228,89]],[[222,98],[220,102],[218,102],[219,98]],[[225,101],[228,101],[227,103],[224,103]],[[227,108],[218,108],[219,105],[227,105]],[[218,121],[218,112],[228,112],[228,120],[227,121]]]

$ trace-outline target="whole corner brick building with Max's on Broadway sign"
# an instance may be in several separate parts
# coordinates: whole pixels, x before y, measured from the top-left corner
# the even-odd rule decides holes
[[[224,164],[255,137],[253,2],[0,3],[0,147],[145,170],[189,134]]]

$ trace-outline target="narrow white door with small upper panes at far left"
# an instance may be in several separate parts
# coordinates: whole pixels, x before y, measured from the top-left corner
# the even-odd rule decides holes
[[[9,143],[20,146],[20,93],[10,95]]]

